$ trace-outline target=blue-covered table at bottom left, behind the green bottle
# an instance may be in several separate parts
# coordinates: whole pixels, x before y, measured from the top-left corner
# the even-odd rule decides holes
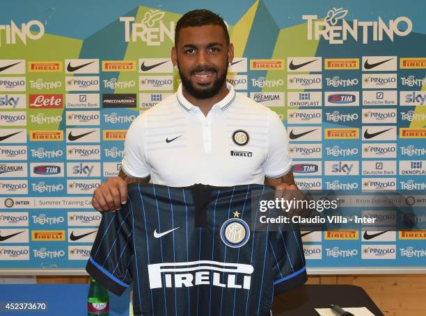
[[[0,302],[45,302],[45,312],[0,311],[0,316],[87,315],[88,284],[1,284]],[[109,316],[129,316],[130,290],[121,297],[109,292]],[[1,304],[0,304],[1,305]]]

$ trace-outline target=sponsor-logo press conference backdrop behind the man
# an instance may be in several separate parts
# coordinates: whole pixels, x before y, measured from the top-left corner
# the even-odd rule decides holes
[[[161,3],[161,4],[159,4]],[[3,1],[0,269],[82,271],[129,124],[175,92],[191,1]],[[426,4],[205,1],[229,26],[228,82],[276,111],[301,189],[425,190]],[[231,137],[231,136],[230,136]],[[383,213],[383,218],[394,216]],[[424,265],[425,235],[303,233],[310,271]],[[390,270],[388,270],[390,271]]]

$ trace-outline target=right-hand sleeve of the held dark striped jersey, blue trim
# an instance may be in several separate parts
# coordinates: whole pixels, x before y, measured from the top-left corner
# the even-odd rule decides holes
[[[269,250],[274,275],[274,294],[297,288],[306,282],[306,260],[299,226],[279,226],[278,231],[269,233]]]

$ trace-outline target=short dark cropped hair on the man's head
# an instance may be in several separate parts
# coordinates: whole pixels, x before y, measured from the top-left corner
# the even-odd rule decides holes
[[[180,17],[178,23],[176,23],[175,28],[175,46],[178,46],[179,40],[179,31],[182,28],[190,27],[190,26],[204,26],[204,25],[218,25],[223,29],[223,33],[225,34],[226,44],[229,44],[229,33],[228,28],[226,27],[223,18],[216,13],[212,13],[210,10],[200,9],[200,10],[192,10]]]

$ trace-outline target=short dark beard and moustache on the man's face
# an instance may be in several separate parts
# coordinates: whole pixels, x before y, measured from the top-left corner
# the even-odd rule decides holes
[[[210,67],[197,67],[191,72],[191,75],[194,75],[196,72],[212,72],[214,74],[218,74],[217,69],[210,68]],[[189,94],[191,94],[192,97],[196,99],[210,99],[211,97],[214,97],[216,94],[219,93],[221,90],[223,83],[226,82],[226,75],[228,74],[228,63],[225,65],[225,71],[221,74],[221,76],[217,76],[216,80],[213,82],[213,85],[211,88],[196,88],[192,83],[190,78],[186,78],[184,74],[180,71],[179,68],[179,75],[180,80],[182,81],[182,85],[187,90]]]

